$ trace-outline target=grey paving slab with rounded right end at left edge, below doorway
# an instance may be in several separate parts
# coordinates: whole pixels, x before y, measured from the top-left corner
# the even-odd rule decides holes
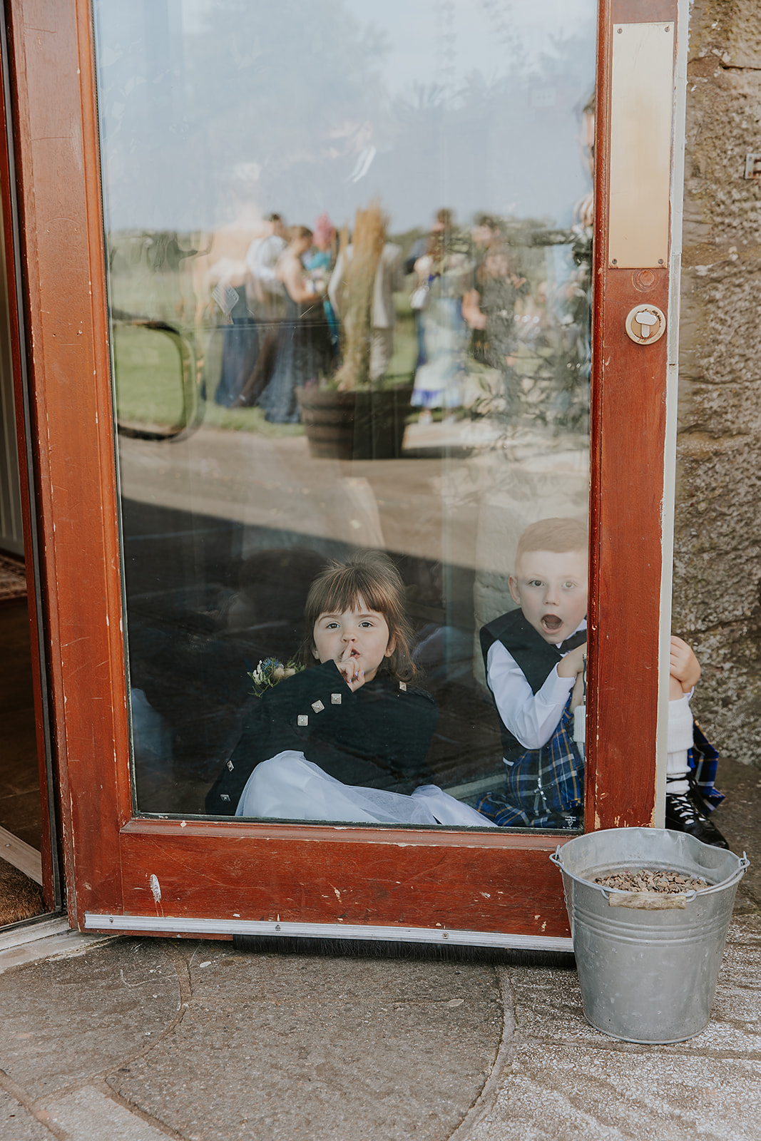
[[[120,939],[0,977],[2,1069],[31,1099],[149,1046],[180,1008],[162,940]]]

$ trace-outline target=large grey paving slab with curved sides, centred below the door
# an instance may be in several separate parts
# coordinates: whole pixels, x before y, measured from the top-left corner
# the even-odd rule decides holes
[[[149,1054],[110,1073],[188,1141],[445,1141],[502,1036],[486,965],[188,955],[193,998]]]

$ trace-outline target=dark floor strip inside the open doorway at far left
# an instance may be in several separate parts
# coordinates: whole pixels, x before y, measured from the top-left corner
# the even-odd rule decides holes
[[[39,849],[40,774],[25,599],[0,606],[0,825]]]

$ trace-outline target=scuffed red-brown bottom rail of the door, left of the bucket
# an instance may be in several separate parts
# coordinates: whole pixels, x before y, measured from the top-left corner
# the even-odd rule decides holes
[[[124,908],[152,916],[567,936],[560,874],[549,859],[557,842],[547,835],[133,822],[122,832]]]

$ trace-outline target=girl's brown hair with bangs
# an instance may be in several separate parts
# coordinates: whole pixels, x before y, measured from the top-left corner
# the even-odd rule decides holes
[[[342,614],[359,606],[359,600],[388,625],[394,652],[378,667],[396,681],[411,681],[418,670],[412,661],[412,626],[404,606],[402,575],[381,551],[357,551],[346,563],[331,563],[322,570],[307,594],[303,608],[303,641],[299,655],[306,665],[314,662],[314,629],[321,614]]]

